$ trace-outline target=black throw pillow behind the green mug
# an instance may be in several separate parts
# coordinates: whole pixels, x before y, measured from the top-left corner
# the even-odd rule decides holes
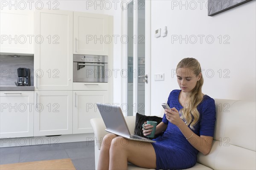
[[[163,118],[160,118],[158,116],[146,116],[146,115],[141,115],[140,113],[136,113],[136,122],[135,122],[135,129],[134,129],[134,134],[145,137],[143,135],[142,131],[142,125],[144,124],[145,121],[156,121],[157,124],[160,124],[162,122]],[[155,135],[154,138],[157,138],[159,135]],[[153,138],[151,138],[153,139]]]

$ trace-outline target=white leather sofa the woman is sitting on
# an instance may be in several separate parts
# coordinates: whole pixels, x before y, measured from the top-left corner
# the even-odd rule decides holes
[[[198,161],[189,170],[256,170],[256,103],[215,99],[216,125],[209,154],[198,153]],[[163,114],[163,113],[162,113]],[[134,132],[135,116],[125,117]],[[90,120],[95,135],[95,167],[97,168],[102,138],[107,134],[102,118]],[[145,170],[128,164],[128,170]]]

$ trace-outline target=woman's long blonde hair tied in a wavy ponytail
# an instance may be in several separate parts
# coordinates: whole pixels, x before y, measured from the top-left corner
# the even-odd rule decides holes
[[[195,58],[184,58],[177,64],[176,69],[180,68],[190,69],[190,71],[193,71],[195,73],[196,77],[199,76],[199,74],[201,73],[200,63]],[[203,84],[204,78],[203,76],[201,76],[201,79],[197,81],[195,88],[192,89],[191,93],[186,99],[186,107],[184,106],[182,109],[180,109],[180,118],[182,118],[185,121],[186,125],[189,125],[189,127],[193,130],[195,124],[198,123],[198,120],[200,118],[197,106],[203,100]]]

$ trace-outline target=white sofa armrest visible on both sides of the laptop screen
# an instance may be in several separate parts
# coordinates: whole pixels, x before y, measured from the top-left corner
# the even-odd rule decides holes
[[[125,121],[130,133],[133,134],[134,128],[135,128],[136,116],[127,116],[125,117]],[[100,150],[100,147],[102,145],[102,140],[104,136],[108,134],[108,132],[105,131],[106,126],[102,118],[93,118],[90,120],[90,124],[93,127],[95,144],[98,147],[98,150]]]

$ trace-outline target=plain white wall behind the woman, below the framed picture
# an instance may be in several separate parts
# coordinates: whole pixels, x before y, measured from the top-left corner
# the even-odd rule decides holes
[[[201,3],[200,8],[199,1],[195,0],[192,4],[191,1],[184,0],[182,4],[187,3],[187,9],[186,6],[180,6],[180,2],[151,2],[151,77],[157,73],[165,73],[165,81],[151,79],[151,115],[159,114],[160,103],[167,100],[172,89],[179,89],[176,75],[172,74],[172,70],[186,57],[197,58],[205,70],[204,94],[212,98],[255,101],[256,1],[213,17],[207,16],[207,1]],[[155,38],[154,30],[163,29],[164,26],[168,27],[168,36]],[[187,44],[185,40],[172,42],[174,37],[180,35],[183,38],[188,35]],[[193,35],[198,37],[196,43]],[[201,35],[205,36],[202,43],[199,37]],[[221,43],[219,35],[222,37]],[[225,35],[227,36],[224,37]],[[210,37],[214,37],[211,44]],[[224,40],[229,44],[224,44]]]

